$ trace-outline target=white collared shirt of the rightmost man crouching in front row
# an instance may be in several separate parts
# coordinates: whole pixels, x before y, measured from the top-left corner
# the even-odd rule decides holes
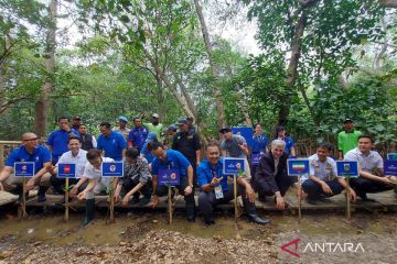
[[[371,151],[367,156],[365,156],[358,147],[348,151],[344,157],[345,161],[356,161],[362,170],[372,173],[374,168],[379,168],[383,170],[383,158],[376,151]]]

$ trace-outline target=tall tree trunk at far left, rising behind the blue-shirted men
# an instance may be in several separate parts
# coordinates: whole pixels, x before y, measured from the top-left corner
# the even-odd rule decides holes
[[[53,88],[53,73],[55,64],[55,33],[56,33],[56,0],[50,1],[51,23],[47,29],[45,48],[45,70],[46,77],[40,91],[40,98],[34,106],[34,132],[39,136],[45,135],[47,116],[50,110],[50,95]]]

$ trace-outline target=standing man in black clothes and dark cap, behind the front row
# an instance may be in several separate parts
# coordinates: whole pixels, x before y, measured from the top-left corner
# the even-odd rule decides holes
[[[179,121],[180,131],[174,135],[172,150],[181,152],[193,167],[193,184],[196,185],[196,167],[201,161],[200,136],[196,133],[190,134],[187,120]]]

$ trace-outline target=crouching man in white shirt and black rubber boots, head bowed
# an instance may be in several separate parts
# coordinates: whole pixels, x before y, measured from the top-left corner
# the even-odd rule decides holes
[[[95,195],[106,190],[110,184],[110,178],[101,177],[101,164],[103,162],[114,162],[110,157],[103,157],[100,151],[97,148],[92,148],[87,152],[87,160],[88,163],[84,168],[84,177],[88,178],[88,185],[77,195],[78,200],[86,199],[86,212],[83,226],[88,224],[94,219]]]

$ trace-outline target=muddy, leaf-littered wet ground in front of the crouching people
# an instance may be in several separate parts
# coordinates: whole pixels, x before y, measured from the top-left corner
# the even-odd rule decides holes
[[[216,224],[200,219],[187,223],[176,212],[172,226],[159,211],[120,212],[106,224],[105,212],[81,227],[83,215],[73,212],[68,223],[61,211],[31,212],[18,220],[0,211],[2,263],[396,263],[397,213],[265,215],[261,227],[244,217],[235,224],[232,213],[218,213]],[[281,245],[290,241],[290,254]],[[339,244],[339,245],[337,245]],[[351,251],[344,249],[351,245]],[[309,246],[308,246],[309,245]],[[352,248],[353,245],[353,248]],[[296,248],[297,246],[297,248]],[[316,246],[316,248],[315,248]],[[348,246],[347,246],[348,248]]]

